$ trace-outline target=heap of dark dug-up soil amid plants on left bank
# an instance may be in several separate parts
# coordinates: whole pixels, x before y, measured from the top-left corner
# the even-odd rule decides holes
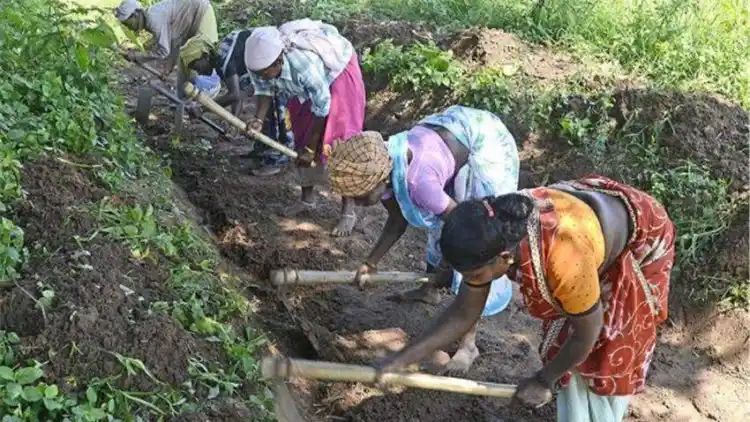
[[[222,359],[220,350],[172,318],[149,312],[152,301],[171,298],[165,269],[134,261],[102,234],[87,240],[103,191],[86,172],[43,158],[25,165],[22,177],[27,197],[16,221],[31,261],[0,298],[0,326],[21,336],[25,358],[47,362],[51,382],[72,389],[119,376],[121,388],[146,390],[157,386],[143,375],[127,377],[115,354],[141,359],[159,381],[173,385],[187,380],[190,356]],[[44,289],[55,297],[43,310],[36,298]]]

